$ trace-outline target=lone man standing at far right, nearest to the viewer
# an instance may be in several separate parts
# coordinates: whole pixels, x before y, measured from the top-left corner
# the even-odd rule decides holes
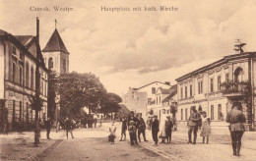
[[[230,111],[226,115],[226,123],[229,123],[229,132],[232,139],[233,155],[240,156],[241,139],[244,133],[245,116],[242,113],[242,106],[239,102],[234,102]]]

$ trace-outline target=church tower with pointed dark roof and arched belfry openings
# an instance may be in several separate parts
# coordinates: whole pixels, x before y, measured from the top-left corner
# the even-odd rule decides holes
[[[55,28],[46,46],[42,50],[45,66],[57,74],[69,73],[69,52]]]

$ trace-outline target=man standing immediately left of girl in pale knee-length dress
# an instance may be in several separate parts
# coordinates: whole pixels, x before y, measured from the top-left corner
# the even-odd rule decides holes
[[[192,143],[191,134],[194,134],[193,144],[196,144],[198,125],[201,121],[201,115],[197,112],[196,107],[190,108],[190,117],[188,119],[188,143]]]

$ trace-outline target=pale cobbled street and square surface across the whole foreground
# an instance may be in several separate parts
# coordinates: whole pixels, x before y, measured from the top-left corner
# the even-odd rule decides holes
[[[179,128],[172,133],[170,144],[153,146],[152,135],[147,131],[148,142],[131,146],[120,139],[120,123],[117,126],[115,144],[107,142],[109,124],[96,129],[78,129],[74,139],[66,139],[64,131],[51,132],[52,139],[41,133],[41,144],[32,145],[32,133],[0,134],[0,160],[256,160],[256,133],[246,132],[242,138],[241,156],[232,155],[228,131],[214,130],[209,144],[203,144],[198,136],[197,144],[186,144],[187,130]],[[199,133],[198,133],[199,135]]]

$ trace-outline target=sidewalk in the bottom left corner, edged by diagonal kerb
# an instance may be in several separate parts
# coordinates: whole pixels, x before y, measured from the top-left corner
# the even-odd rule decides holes
[[[0,160],[33,160],[49,147],[59,144],[65,138],[64,131],[51,131],[51,139],[46,139],[46,131],[40,133],[40,144],[33,145],[33,132],[0,134]]]

